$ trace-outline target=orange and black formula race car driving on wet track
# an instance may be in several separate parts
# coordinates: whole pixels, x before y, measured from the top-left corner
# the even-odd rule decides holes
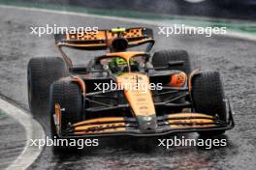
[[[49,100],[52,136],[216,135],[234,127],[220,73],[191,71],[185,50],[150,54],[149,28],[57,34],[55,43],[63,59],[32,58],[28,64],[29,105],[34,112]],[[128,51],[139,45],[145,50]],[[109,53],[74,65],[64,46]]]

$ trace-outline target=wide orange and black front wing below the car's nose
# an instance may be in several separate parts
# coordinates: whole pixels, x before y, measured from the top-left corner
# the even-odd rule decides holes
[[[82,121],[59,131],[61,138],[83,138],[99,136],[157,136],[175,132],[195,132],[208,130],[226,130],[234,128],[233,112],[227,106],[227,123],[215,116],[202,113],[175,113],[157,117],[157,128],[153,131],[142,131],[136,118],[105,117]]]

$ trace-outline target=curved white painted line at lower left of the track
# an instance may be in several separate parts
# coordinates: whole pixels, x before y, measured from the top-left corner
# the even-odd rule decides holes
[[[16,157],[14,162],[7,167],[8,170],[25,170],[41,154],[43,149],[35,146],[29,146],[30,139],[45,139],[46,134],[41,125],[35,121],[32,116],[17,108],[10,102],[0,99],[0,108],[12,118],[16,119],[25,128],[26,145],[22,153]]]

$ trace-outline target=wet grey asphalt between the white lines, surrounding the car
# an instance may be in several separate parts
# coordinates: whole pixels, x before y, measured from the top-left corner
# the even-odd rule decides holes
[[[28,109],[26,65],[31,57],[59,55],[53,38],[29,34],[30,26],[146,26],[109,19],[12,11],[0,8],[0,94]],[[157,33],[156,27],[155,33]],[[236,112],[236,128],[221,138],[228,146],[205,150],[198,147],[157,147],[157,138],[116,137],[100,140],[100,147],[75,153],[53,154],[45,148],[31,169],[255,169],[256,167],[256,42],[203,36],[157,36],[155,50],[183,48],[196,68],[221,71],[227,96]],[[86,54],[93,56],[93,53]],[[84,63],[86,58],[80,59]],[[46,110],[36,118],[48,132]],[[172,138],[165,136],[164,138]],[[198,138],[196,133],[187,138]]]

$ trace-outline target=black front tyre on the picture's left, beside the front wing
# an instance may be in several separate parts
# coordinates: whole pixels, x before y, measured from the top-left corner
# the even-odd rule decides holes
[[[66,129],[68,124],[74,124],[82,120],[82,96],[80,86],[70,80],[55,81],[50,87],[50,127],[51,137],[58,138],[53,120],[55,104],[58,103],[61,111],[61,129]]]

